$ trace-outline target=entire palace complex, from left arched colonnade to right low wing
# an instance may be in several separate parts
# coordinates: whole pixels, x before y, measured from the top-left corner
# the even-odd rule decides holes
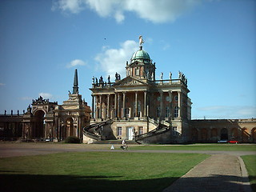
[[[75,136],[84,143],[130,140],[138,143],[187,143],[237,140],[256,142],[256,120],[191,119],[192,102],[185,74],[156,79],[156,63],[139,47],[124,63],[126,77],[115,74],[106,82],[94,78],[91,107],[78,93],[78,71],[73,92],[62,105],[39,97],[23,114],[0,115],[0,139],[62,141]],[[167,70],[168,71],[168,70]],[[166,71],[165,71],[166,72]],[[168,72],[167,72],[168,73]],[[113,141],[112,141],[113,142]]]

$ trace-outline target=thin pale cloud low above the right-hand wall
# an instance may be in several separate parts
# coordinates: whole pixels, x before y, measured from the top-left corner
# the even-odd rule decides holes
[[[197,110],[206,118],[256,118],[255,106],[206,106]]]

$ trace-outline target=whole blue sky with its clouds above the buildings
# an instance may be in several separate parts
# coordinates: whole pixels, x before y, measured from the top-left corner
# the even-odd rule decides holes
[[[91,103],[92,76],[125,76],[143,49],[156,78],[188,78],[192,118],[256,118],[254,0],[2,0],[0,114],[42,95],[62,104],[78,69]]]

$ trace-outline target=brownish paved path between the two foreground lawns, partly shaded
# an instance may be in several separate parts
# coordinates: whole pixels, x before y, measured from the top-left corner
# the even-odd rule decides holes
[[[245,171],[240,157],[213,154],[163,192],[250,192]]]

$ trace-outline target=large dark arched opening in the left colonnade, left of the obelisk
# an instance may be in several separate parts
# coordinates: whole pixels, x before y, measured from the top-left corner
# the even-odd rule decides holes
[[[45,130],[45,112],[43,110],[37,110],[34,113],[34,129],[32,129],[32,138],[44,138],[44,130]]]

